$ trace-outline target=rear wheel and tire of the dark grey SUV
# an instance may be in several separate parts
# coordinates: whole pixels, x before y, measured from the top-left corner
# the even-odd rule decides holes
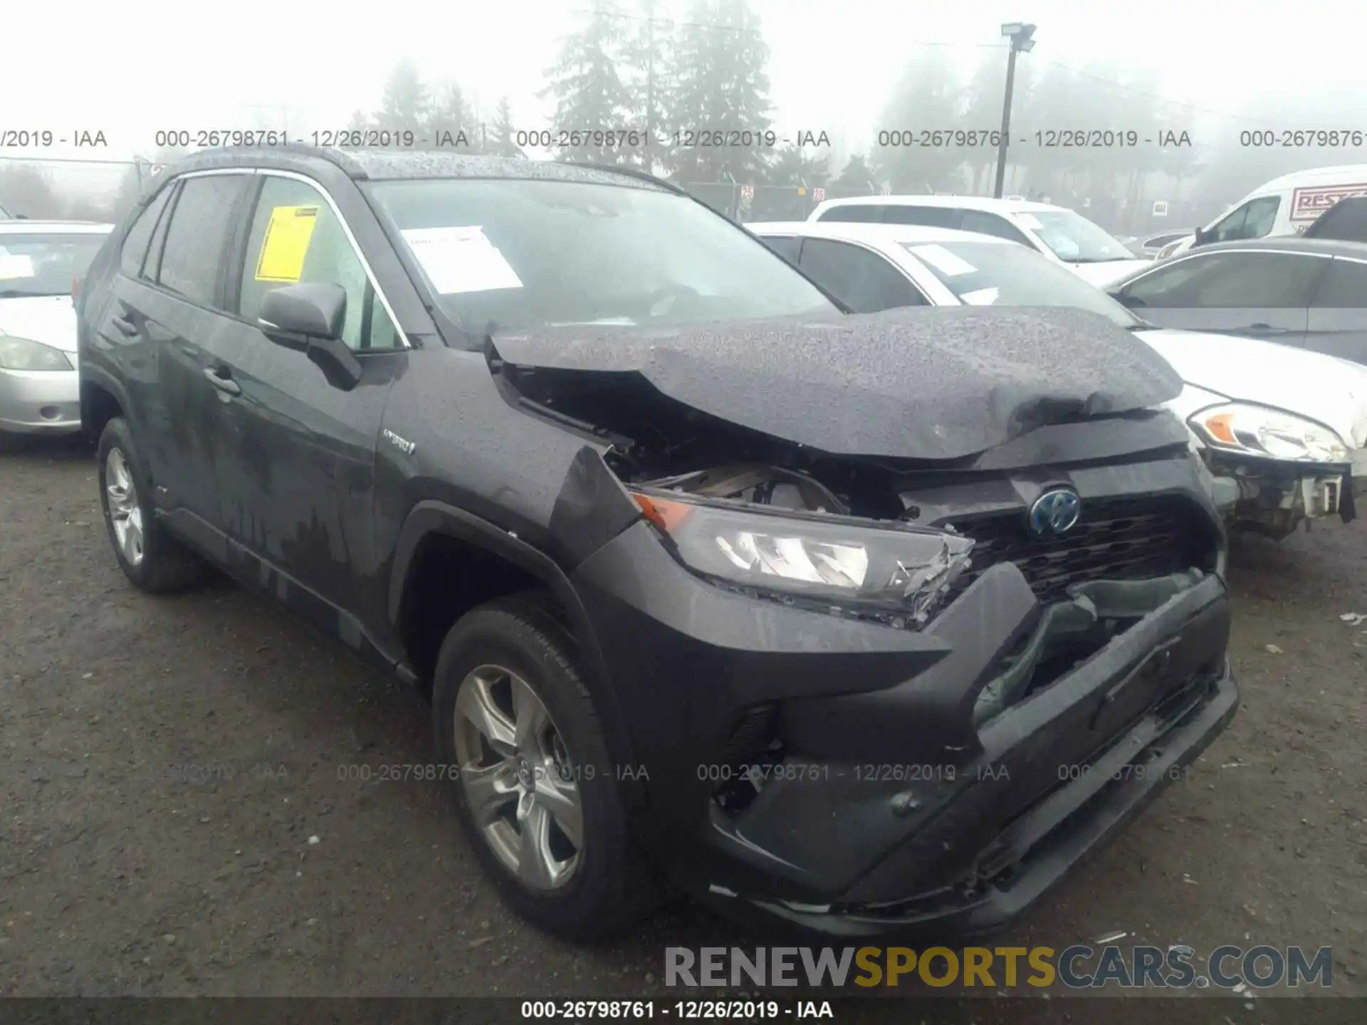
[[[182,590],[200,579],[204,563],[156,518],[152,480],[123,417],[105,424],[96,458],[100,508],[123,575],[150,594]]]

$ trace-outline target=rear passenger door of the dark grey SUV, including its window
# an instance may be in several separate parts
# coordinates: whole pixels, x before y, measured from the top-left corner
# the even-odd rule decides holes
[[[206,372],[223,342],[223,271],[249,180],[194,172],[168,187],[164,202],[159,195],[146,212],[156,213],[148,250],[138,260],[150,224],[139,219],[97,327],[119,355],[157,508],[217,559],[226,554],[216,470],[223,405]]]

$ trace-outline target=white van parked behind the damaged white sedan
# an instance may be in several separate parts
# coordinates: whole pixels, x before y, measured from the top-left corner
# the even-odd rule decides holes
[[[1074,210],[1016,197],[858,195],[827,200],[812,210],[808,220],[920,224],[995,235],[1043,253],[1096,287],[1118,282],[1151,262],[1136,257],[1120,239]]]

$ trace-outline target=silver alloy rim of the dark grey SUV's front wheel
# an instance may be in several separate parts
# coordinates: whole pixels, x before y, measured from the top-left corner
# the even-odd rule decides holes
[[[577,769],[526,681],[492,664],[461,681],[455,757],[474,823],[509,872],[536,890],[569,883],[584,849]]]

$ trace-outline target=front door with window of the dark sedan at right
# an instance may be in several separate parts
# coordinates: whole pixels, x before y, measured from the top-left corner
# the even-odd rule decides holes
[[[1165,328],[1304,344],[1310,299],[1327,257],[1270,250],[1193,253],[1159,264],[1114,295]]]

